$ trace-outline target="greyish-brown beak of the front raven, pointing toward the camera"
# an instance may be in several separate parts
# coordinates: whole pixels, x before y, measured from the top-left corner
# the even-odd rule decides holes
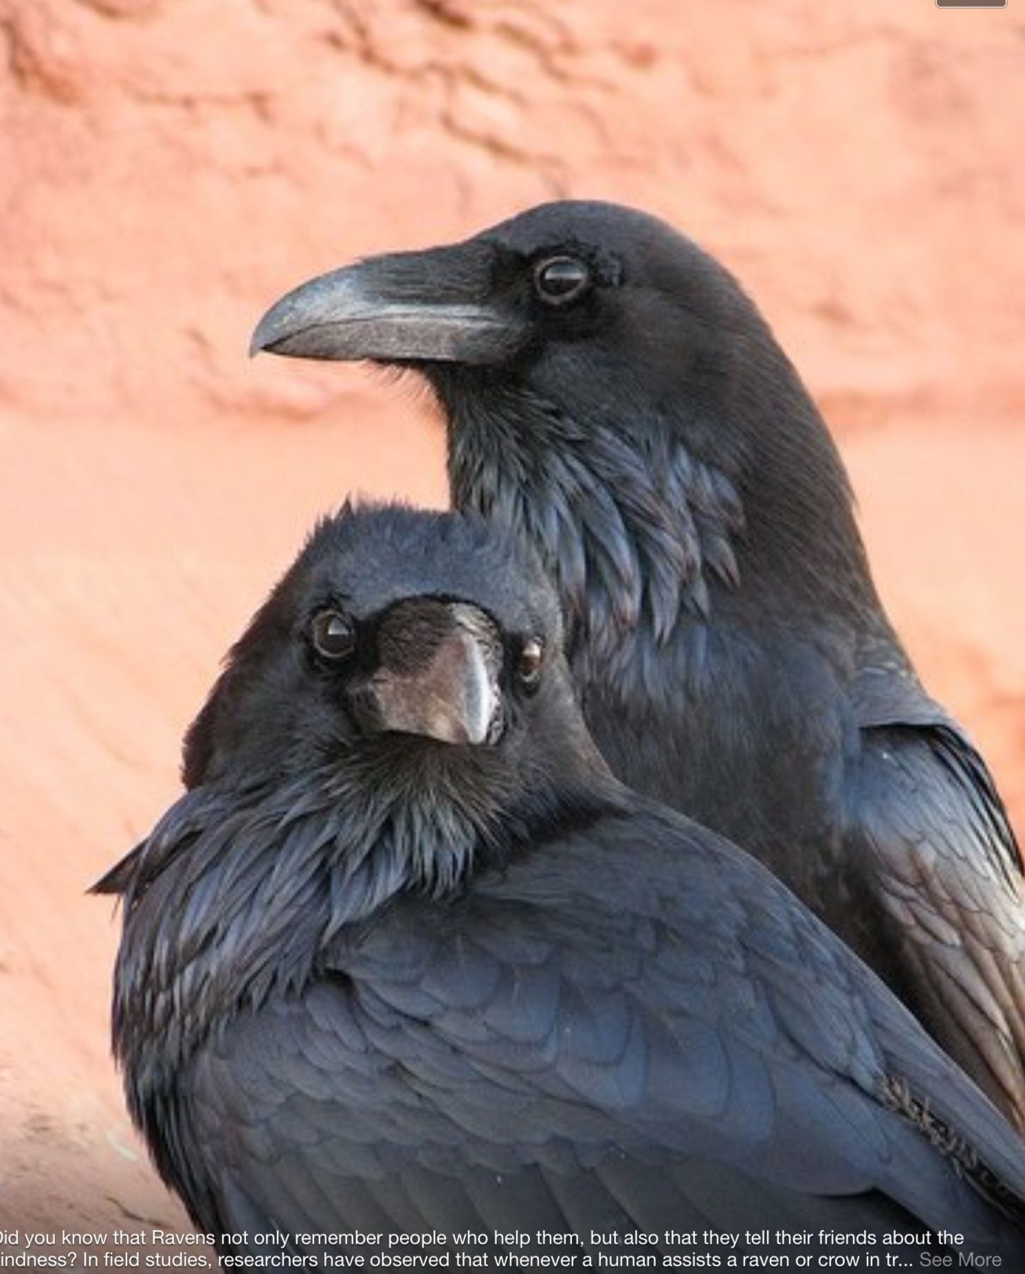
[[[472,632],[455,627],[425,669],[374,674],[367,694],[377,729],[439,743],[497,743],[502,699],[493,662]]]

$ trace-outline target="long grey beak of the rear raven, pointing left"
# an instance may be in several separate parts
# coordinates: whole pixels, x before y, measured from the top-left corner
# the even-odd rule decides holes
[[[250,354],[488,364],[513,354],[526,325],[490,298],[491,255],[470,240],[369,257],[281,297]]]

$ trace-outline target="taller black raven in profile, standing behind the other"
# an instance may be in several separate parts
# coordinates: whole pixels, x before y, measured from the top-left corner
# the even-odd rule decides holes
[[[643,213],[549,204],[307,283],[253,349],[423,373],[455,507],[522,531],[558,583],[615,773],[768,864],[1025,1127],[1014,833],[731,275]]]

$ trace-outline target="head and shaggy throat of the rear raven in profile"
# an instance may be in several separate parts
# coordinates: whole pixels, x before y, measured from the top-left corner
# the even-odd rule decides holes
[[[606,675],[741,576],[767,622],[861,587],[847,480],[797,373],[733,278],[644,213],[545,204],[371,257],[290,292],[252,349],[421,373],[455,506],[526,533]]]

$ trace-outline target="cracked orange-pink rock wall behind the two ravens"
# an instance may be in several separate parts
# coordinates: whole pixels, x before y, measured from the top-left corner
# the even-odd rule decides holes
[[[559,195],[721,255],[1025,823],[1024,59],[1017,0],[0,0],[0,1227],[181,1223],[83,889],[313,515],[443,499],[423,400],[246,359],[353,255]]]

